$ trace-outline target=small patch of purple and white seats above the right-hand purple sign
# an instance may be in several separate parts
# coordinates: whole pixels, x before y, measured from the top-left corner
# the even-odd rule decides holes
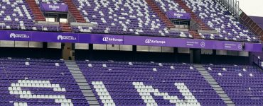
[[[184,11],[183,8],[181,8],[179,4],[176,3],[175,0],[154,0],[154,1],[161,8],[163,12],[175,11],[177,13],[186,13],[186,11]]]

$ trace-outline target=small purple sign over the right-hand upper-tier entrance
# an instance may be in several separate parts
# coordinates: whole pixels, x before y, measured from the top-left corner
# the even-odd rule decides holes
[[[167,11],[166,16],[172,19],[190,20],[190,13],[177,13],[175,11]]]

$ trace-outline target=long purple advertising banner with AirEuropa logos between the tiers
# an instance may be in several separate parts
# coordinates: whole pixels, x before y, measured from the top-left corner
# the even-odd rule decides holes
[[[199,49],[225,49],[262,52],[262,45],[252,42],[195,40],[175,37],[149,37],[135,35],[107,35],[90,33],[48,33],[36,31],[0,30],[0,40],[33,42],[73,42],[109,45],[144,45],[158,47],[186,47]]]

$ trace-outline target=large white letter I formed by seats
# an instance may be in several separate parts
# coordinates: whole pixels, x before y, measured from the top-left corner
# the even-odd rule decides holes
[[[104,105],[115,106],[112,97],[109,95],[109,92],[102,81],[92,81],[92,85],[95,88],[97,95],[100,96],[100,100],[102,100]]]

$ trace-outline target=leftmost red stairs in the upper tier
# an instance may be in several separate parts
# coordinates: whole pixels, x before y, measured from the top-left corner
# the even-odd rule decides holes
[[[31,9],[36,21],[45,21],[45,16],[43,16],[43,13],[41,9],[39,8],[39,6],[36,4],[35,0],[26,0],[26,3]]]

